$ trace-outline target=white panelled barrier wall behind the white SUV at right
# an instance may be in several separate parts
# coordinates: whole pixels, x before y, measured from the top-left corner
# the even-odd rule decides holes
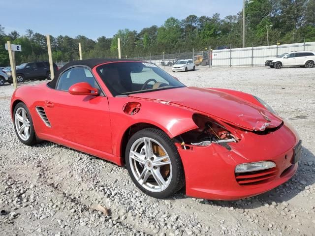
[[[213,50],[212,66],[260,66],[268,58],[294,51],[315,51],[315,42]]]

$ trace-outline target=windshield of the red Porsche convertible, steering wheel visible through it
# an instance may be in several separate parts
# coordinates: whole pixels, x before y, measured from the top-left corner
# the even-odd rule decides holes
[[[109,63],[98,66],[96,71],[114,96],[185,87],[148,62]]]

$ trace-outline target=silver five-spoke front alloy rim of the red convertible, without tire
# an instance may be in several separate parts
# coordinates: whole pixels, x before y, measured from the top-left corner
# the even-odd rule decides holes
[[[136,140],[129,152],[132,175],[151,192],[162,192],[172,179],[171,160],[158,141],[144,137]]]

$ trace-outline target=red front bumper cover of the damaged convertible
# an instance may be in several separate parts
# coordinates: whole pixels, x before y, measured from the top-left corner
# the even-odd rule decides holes
[[[177,145],[185,170],[186,194],[212,200],[237,200],[267,192],[290,179],[298,164],[292,164],[293,148],[299,136],[285,124],[272,133],[257,135],[244,133],[239,143],[229,143],[232,148],[211,144],[183,149]],[[253,184],[239,184],[235,167],[241,163],[273,161],[274,177]]]

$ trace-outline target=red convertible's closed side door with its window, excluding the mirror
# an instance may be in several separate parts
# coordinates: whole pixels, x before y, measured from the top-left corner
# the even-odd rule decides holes
[[[99,95],[72,95],[70,86],[87,82]],[[49,100],[44,101],[47,118],[55,136],[74,144],[112,153],[108,99],[92,72],[85,67],[72,67],[58,78]]]

